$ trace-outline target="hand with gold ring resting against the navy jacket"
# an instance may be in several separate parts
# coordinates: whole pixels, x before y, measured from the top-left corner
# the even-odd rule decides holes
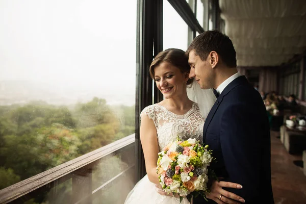
[[[245,200],[242,197],[236,195],[235,193],[225,191],[224,189],[222,189],[222,187],[236,188],[236,189],[242,188],[240,184],[235,184],[231,182],[213,181],[211,192],[206,193],[206,197],[214,200],[218,204],[224,204],[224,203],[237,204],[237,201],[245,202]]]

